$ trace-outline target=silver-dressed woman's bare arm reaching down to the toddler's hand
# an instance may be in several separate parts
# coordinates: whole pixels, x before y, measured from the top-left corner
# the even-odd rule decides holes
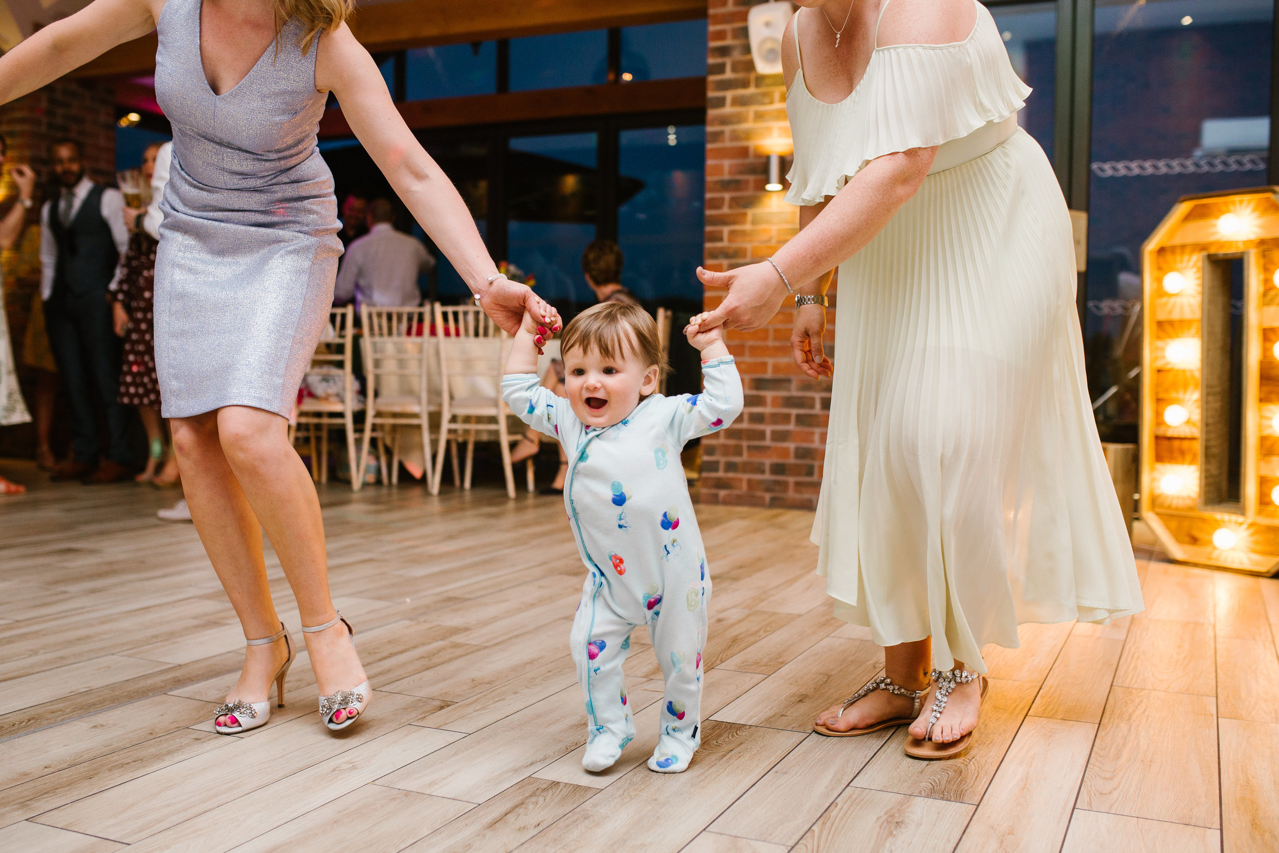
[[[320,37],[316,88],[338,96],[341,113],[368,156],[386,175],[413,219],[448,256],[490,317],[510,334],[519,329],[524,309],[549,324],[553,309],[532,290],[489,276],[498,267],[476,229],[471,211],[453,182],[404,124],[386,82],[368,51],[345,24]]]

